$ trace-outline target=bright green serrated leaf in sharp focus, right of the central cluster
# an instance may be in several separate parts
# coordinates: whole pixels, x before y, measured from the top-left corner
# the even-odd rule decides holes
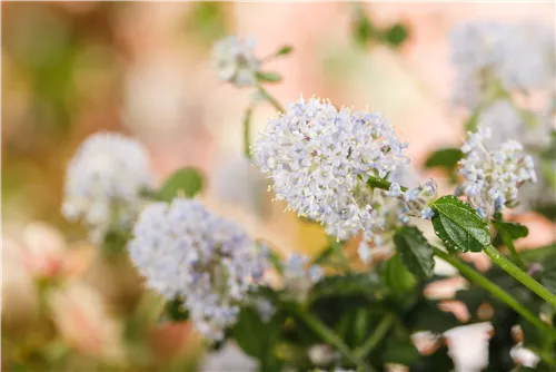
[[[460,252],[480,252],[490,244],[487,223],[467,203],[446,195],[431,205],[436,235],[448,247]]]

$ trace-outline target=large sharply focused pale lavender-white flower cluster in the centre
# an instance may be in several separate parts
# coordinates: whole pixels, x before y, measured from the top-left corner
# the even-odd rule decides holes
[[[277,199],[346,239],[373,229],[377,213],[366,182],[407,164],[406,147],[379,114],[301,98],[267,124],[254,156]]]

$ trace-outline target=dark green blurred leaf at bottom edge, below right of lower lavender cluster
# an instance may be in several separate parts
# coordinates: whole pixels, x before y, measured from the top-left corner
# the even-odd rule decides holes
[[[280,312],[277,312],[267,323],[262,322],[252,307],[242,307],[239,313],[231,337],[247,355],[259,361],[260,371],[278,372],[281,370],[281,362],[275,354],[281,322]]]

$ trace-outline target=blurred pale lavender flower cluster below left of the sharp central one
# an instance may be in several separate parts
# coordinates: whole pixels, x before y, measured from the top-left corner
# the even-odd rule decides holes
[[[129,254],[147,285],[183,300],[197,330],[221,340],[239,304],[262,277],[267,256],[234,223],[199,202],[176,198],[143,209]]]

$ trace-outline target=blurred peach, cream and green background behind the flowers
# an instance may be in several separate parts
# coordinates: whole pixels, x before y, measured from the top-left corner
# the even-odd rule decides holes
[[[207,204],[285,251],[312,253],[326,242],[319,227],[270,203],[265,179],[244,159],[241,117],[251,91],[217,79],[215,41],[252,36],[261,58],[291,45],[290,56],[268,62],[284,77],[268,88],[278,100],[316,95],[379,110],[410,143],[419,165],[430,149],[458,146],[465,134],[468,112],[449,100],[448,31],[476,19],[555,26],[554,2],[364,3],[373,25],[399,23],[407,37],[399,45],[360,45],[354,39],[357,8],[348,2],[60,0],[0,7],[1,362],[8,371],[183,370],[200,360],[200,342],[187,325],[147,330],[133,339],[140,339],[135,354],[121,345],[140,280],[125,260],[99,257],[85,232],[60,214],[67,161],[92,133],[139,138],[159,179],[183,166],[199,168]],[[255,138],[272,115],[270,106],[257,107]],[[539,226],[535,238],[553,238],[548,221],[532,223]],[[71,285],[44,298],[34,283],[52,275]]]

